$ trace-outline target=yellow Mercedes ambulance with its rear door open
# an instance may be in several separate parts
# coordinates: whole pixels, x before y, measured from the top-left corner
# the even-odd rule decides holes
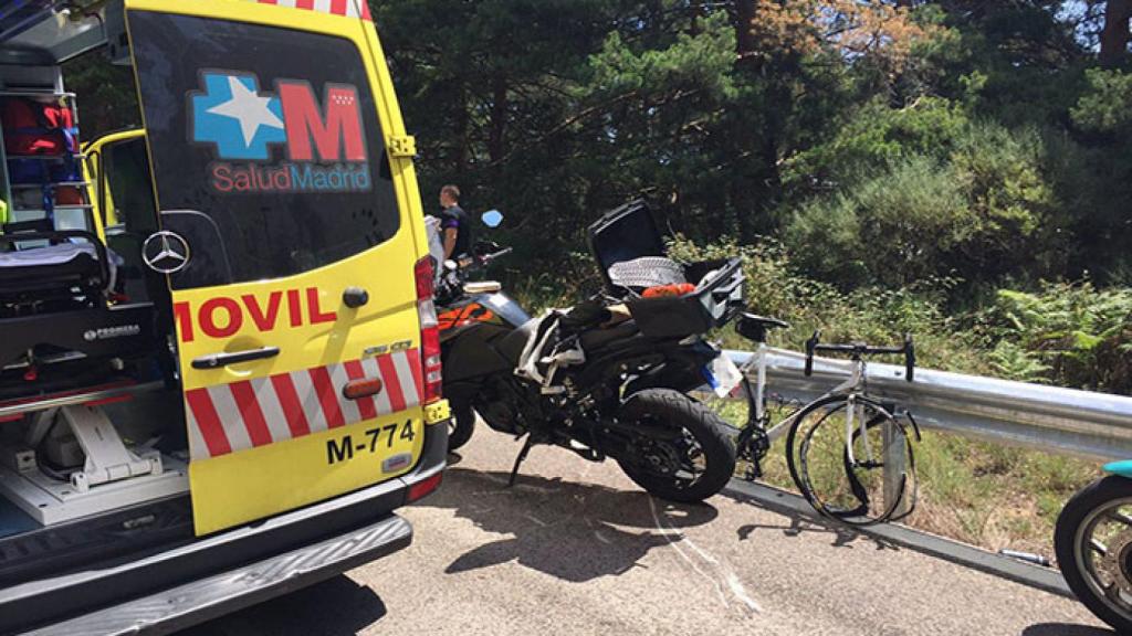
[[[145,134],[86,143],[79,55]],[[406,547],[449,412],[366,1],[8,0],[0,134],[0,633],[168,633]]]

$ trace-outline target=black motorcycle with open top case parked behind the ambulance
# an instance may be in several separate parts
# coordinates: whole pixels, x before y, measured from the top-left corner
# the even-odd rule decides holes
[[[689,397],[738,383],[703,334],[737,315],[739,259],[680,266],[666,258],[648,208],[634,201],[590,227],[604,292],[540,318],[469,274],[509,250],[446,268],[439,285],[444,392],[455,414],[449,448],[472,435],[475,413],[492,429],[586,459],[611,457],[649,492],[700,501],[735,470],[727,424]]]

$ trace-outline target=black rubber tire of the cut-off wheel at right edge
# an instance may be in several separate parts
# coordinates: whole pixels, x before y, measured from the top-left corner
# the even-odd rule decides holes
[[[1083,536],[1082,527],[1098,516],[1098,512],[1112,506],[1118,500],[1132,502],[1132,480],[1118,475],[1109,475],[1095,481],[1081,489],[1065,504],[1054,530],[1054,552],[1057,555],[1057,566],[1065,577],[1065,583],[1084,607],[1089,608],[1100,620],[1116,628],[1120,634],[1132,634],[1132,605],[1114,607],[1099,588],[1100,582],[1088,571],[1082,559],[1089,558],[1090,539]],[[1127,582],[1125,576],[1125,585]]]

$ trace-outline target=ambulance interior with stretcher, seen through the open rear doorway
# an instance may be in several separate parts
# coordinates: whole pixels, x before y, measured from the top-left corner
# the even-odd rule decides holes
[[[145,139],[84,155],[62,71],[125,42],[120,1],[0,5],[0,584],[192,538]]]

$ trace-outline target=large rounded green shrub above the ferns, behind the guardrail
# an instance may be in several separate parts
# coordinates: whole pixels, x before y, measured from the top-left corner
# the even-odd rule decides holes
[[[784,237],[804,269],[842,289],[1062,270],[1065,222],[1038,131],[970,123],[945,147],[898,153],[797,206]]]

